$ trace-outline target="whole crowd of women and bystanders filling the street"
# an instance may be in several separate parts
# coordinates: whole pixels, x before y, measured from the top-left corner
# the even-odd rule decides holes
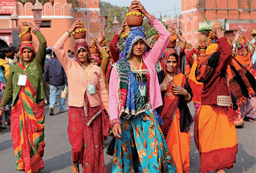
[[[16,170],[44,168],[45,105],[54,115],[58,93],[59,111],[68,111],[73,173],[79,164],[83,172],[106,172],[103,142],[111,133],[112,172],[189,172],[193,122],[200,172],[225,172],[236,163],[236,127],[256,117],[255,38],[226,38],[216,21],[193,48],[139,1],[130,10],[139,10],[135,15],[157,34],[146,38],[143,27],[125,19],[109,46],[103,34],[88,45],[77,20],[47,48],[40,30],[25,21],[22,35],[31,30],[38,50],[31,41],[0,50],[0,119],[2,128],[11,126]],[[66,52],[71,35],[74,50]]]

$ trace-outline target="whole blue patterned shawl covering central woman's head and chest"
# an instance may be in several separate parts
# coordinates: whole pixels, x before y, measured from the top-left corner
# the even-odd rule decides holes
[[[151,49],[146,41],[145,34],[141,30],[134,30],[132,27],[126,38],[124,51],[119,55],[120,59],[113,64],[118,76],[118,117],[126,119],[133,118],[150,108],[150,105],[145,103],[144,97],[141,96],[140,91],[138,90],[137,81],[131,71],[131,66],[128,61],[132,53],[133,45],[139,39],[142,39],[145,42],[145,51]]]

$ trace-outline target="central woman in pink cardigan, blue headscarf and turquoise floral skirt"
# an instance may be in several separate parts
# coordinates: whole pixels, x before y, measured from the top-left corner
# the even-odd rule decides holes
[[[169,32],[139,1],[137,9],[148,18],[160,38],[152,49],[140,27],[131,28],[110,78],[110,119],[117,138],[112,172],[175,172],[176,166],[153,111],[162,105],[155,65],[163,54]],[[144,85],[146,90],[140,91]]]

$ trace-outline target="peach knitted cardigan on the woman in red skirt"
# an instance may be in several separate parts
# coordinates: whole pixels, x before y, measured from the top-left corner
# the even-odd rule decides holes
[[[69,106],[82,107],[84,93],[86,93],[91,107],[99,106],[100,101],[102,101],[106,111],[109,113],[108,92],[106,91],[100,68],[93,64],[89,64],[87,67],[91,78],[90,83],[94,83],[96,90],[96,94],[90,95],[87,91],[87,84],[89,83],[87,71],[76,61],[73,61],[63,49],[63,45],[68,38],[69,34],[66,32],[59,38],[53,49],[68,78]]]

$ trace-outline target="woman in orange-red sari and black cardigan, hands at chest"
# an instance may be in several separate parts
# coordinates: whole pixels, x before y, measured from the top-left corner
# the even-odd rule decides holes
[[[193,94],[186,76],[180,73],[177,53],[167,57],[164,69],[157,75],[163,99],[161,129],[177,171],[189,172],[189,124],[193,122],[193,118],[187,103],[191,101]]]

